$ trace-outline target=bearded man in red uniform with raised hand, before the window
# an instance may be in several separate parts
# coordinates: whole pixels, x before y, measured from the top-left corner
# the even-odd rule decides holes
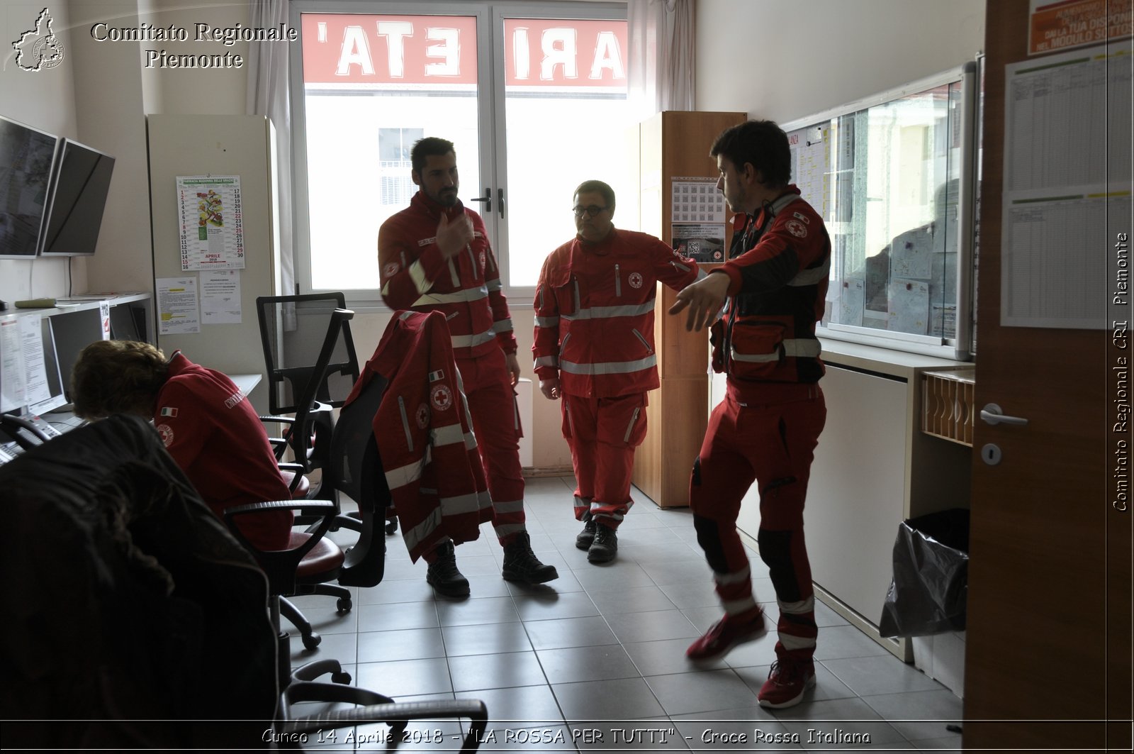
[[[409,207],[386,220],[378,234],[382,300],[395,310],[445,315],[488,477],[492,527],[503,547],[502,576],[543,584],[559,573],[532,552],[524,525],[519,412],[513,389],[519,362],[496,255],[480,215],[457,199],[452,142],[420,139],[411,150],[411,161],[418,191]],[[451,541],[424,559],[429,563],[425,580],[438,593],[468,595],[468,579],[457,569]]]

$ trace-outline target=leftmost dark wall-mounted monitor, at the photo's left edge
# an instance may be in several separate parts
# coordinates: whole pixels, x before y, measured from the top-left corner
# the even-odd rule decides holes
[[[42,245],[58,142],[0,116],[0,259],[34,259]]]

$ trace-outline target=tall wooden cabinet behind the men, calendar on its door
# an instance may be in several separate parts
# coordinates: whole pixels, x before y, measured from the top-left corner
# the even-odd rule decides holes
[[[709,148],[720,132],[746,118],[744,112],[668,111],[638,124],[631,135],[638,158],[638,229],[672,243],[674,178],[716,178]],[[620,211],[627,204],[620,203]],[[709,420],[709,337],[686,333],[684,318],[666,313],[675,296],[658,285],[654,341],[661,387],[650,394],[646,436],[634,460],[634,484],[661,508],[689,504],[689,470]]]

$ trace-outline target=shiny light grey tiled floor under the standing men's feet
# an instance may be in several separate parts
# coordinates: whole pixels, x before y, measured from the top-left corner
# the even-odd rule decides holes
[[[323,640],[306,652],[293,636],[293,664],[336,657],[354,682],[399,702],[480,698],[492,720],[482,751],[960,748],[960,736],[946,729],[959,724],[960,699],[818,602],[818,684],[796,707],[756,702],[775,630],[722,661],[688,662],[685,647],[721,614],[689,511],[659,510],[635,491],[617,560],[592,566],[575,547],[572,484],[527,480],[532,547],[558,568],[557,580],[502,580],[501,550],[485,526],[457,548],[472,596],[437,597],[425,563],[411,563],[400,536],[388,537],[386,578],[357,589],[352,612],[336,614],[329,597],[296,601]],[[756,598],[770,603],[775,626],[771,581],[759,556],[750,559]],[[437,727],[457,732],[452,722],[416,726]],[[358,728],[355,740],[370,734],[370,742],[355,746],[338,731],[328,746],[381,749],[375,730]],[[398,751],[455,748],[450,736]]]

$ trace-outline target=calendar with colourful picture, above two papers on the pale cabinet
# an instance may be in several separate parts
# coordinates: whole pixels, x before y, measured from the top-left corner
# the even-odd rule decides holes
[[[244,269],[240,176],[177,176],[181,269]]]

